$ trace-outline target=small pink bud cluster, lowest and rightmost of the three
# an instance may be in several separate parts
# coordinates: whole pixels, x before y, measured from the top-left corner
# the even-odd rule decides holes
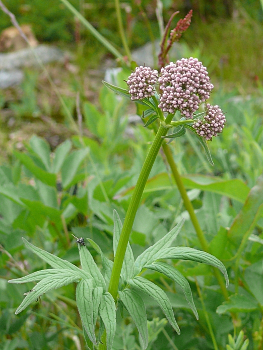
[[[193,123],[193,128],[200,136],[206,140],[212,140],[213,136],[221,133],[224,129],[226,118],[221,109],[216,106],[206,105],[206,115],[204,120],[198,120]]]

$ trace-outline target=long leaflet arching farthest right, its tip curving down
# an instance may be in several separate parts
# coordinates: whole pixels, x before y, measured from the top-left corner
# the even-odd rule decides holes
[[[204,264],[212,265],[218,268],[225,277],[226,286],[228,287],[229,280],[226,268],[224,264],[215,256],[202,251],[196,250],[188,247],[172,247],[162,249],[156,254],[155,259],[182,259],[182,260],[192,260],[197,262],[202,262]]]

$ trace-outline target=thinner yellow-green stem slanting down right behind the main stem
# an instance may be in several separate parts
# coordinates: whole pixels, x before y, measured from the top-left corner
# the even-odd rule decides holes
[[[192,222],[193,227],[195,229],[196,235],[198,236],[198,239],[200,241],[202,249],[209,253],[208,242],[206,240],[206,237],[204,235],[204,232],[203,232],[202,228],[200,227],[198,218],[196,217],[196,215],[194,213],[194,209],[193,209],[193,206],[191,204],[191,201],[189,200],[189,198],[187,196],[187,192],[186,192],[185,187],[184,187],[184,185],[182,183],[182,179],[181,179],[180,174],[178,172],[176,163],[175,163],[175,161],[173,159],[173,155],[172,155],[171,149],[166,143],[163,144],[163,151],[164,151],[166,159],[167,159],[167,161],[168,161],[168,163],[170,165],[170,168],[172,170],[172,174],[173,174],[174,180],[175,180],[175,182],[177,184],[178,190],[179,190],[179,192],[181,194],[181,197],[182,197],[182,200],[183,200],[183,204],[185,206],[185,209],[189,213],[191,222]],[[214,275],[215,275],[215,277],[216,277],[216,279],[218,281],[218,284],[219,284],[219,286],[220,286],[220,288],[222,290],[222,293],[223,293],[225,299],[228,300],[228,291],[226,289],[225,282],[223,281],[219,271],[216,268],[213,267],[213,271],[214,271]]]

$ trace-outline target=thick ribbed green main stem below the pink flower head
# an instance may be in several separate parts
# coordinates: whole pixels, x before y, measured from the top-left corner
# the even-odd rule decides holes
[[[112,268],[112,273],[111,273],[111,278],[109,283],[109,289],[108,289],[109,293],[113,296],[115,300],[117,297],[119,277],[120,277],[120,272],[122,268],[126,247],[129,240],[129,234],[131,232],[131,228],[133,227],[135,215],[140,205],[142,194],[143,194],[146,182],[148,180],[150,171],[153,167],[157,154],[163,143],[162,136],[165,136],[167,134],[167,131],[168,131],[167,124],[171,122],[172,118],[173,118],[172,114],[168,115],[165,120],[165,123],[160,124],[159,130],[155,136],[155,139],[152,143],[152,146],[143,164],[139,179],[137,181],[137,184],[134,190],[133,197],[131,197],[131,200],[129,203],[129,207],[127,210],[127,214],[125,216],[125,220],[124,220],[122,231],[119,238],[116,255],[114,258],[114,263],[113,263],[113,268]]]

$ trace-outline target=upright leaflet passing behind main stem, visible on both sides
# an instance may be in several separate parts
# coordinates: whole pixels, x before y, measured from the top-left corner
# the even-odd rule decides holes
[[[119,242],[119,237],[122,229],[122,223],[120,221],[119,215],[116,210],[113,210],[113,251],[114,256],[116,255],[116,250]],[[126,252],[124,255],[123,265],[121,269],[121,273],[125,280],[128,280],[134,276],[134,253],[131,250],[130,244],[128,243]]]

